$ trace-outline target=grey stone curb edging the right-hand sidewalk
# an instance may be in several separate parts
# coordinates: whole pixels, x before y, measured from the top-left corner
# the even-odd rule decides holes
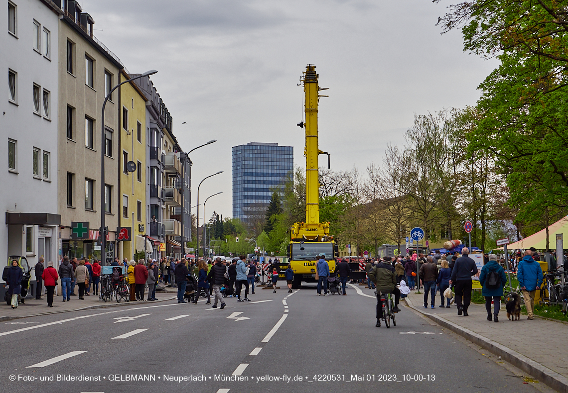
[[[461,327],[449,320],[441,318],[438,315],[427,314],[412,305],[412,302],[405,298],[404,301],[406,305],[411,309],[420,312],[420,314],[427,316],[429,319],[432,319],[438,325],[443,326],[458,335],[465,337],[467,340],[470,340],[472,343],[481,346],[489,350],[490,352],[500,356],[503,360],[511,363],[513,366],[525,371],[525,373],[530,374],[532,377],[538,379],[542,383],[548,385],[549,387],[557,390],[559,392],[568,393],[568,378],[564,377],[561,374],[556,373],[553,370],[550,370],[548,367],[541,365],[538,362],[535,362],[531,358],[512,350],[511,348],[507,348],[503,344],[499,344],[496,341],[490,340],[487,337],[479,335],[469,329]]]

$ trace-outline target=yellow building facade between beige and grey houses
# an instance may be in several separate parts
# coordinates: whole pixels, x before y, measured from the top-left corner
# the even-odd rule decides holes
[[[119,82],[130,79],[122,70]],[[135,83],[120,87],[120,226],[131,227],[131,238],[118,244],[120,259],[144,251],[146,223],[146,102]],[[128,162],[133,165],[129,169]],[[133,170],[133,171],[132,171]],[[137,250],[137,247],[141,250]],[[149,251],[149,250],[148,250]]]

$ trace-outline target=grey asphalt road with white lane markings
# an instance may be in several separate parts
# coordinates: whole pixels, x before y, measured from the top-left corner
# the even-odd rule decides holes
[[[250,303],[225,299],[224,310],[203,301],[144,302],[12,320],[0,324],[0,390],[538,391],[512,366],[406,307],[396,327],[376,328],[373,293],[358,292],[318,297],[313,287],[291,295],[257,289]]]

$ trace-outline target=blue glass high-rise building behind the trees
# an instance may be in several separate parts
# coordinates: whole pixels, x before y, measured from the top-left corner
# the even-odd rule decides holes
[[[233,217],[251,222],[264,217],[273,191],[294,170],[294,147],[250,142],[233,146]]]

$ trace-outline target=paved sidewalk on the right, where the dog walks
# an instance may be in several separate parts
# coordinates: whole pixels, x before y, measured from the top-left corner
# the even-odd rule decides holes
[[[424,292],[424,290],[421,290]],[[471,303],[469,316],[458,316],[457,306],[441,309],[436,296],[436,309],[424,309],[424,294],[411,291],[408,306],[428,316],[441,326],[490,350],[504,360],[544,382],[555,390],[568,392],[568,326],[561,322],[540,319],[527,320],[526,315],[515,322],[507,319],[502,304],[499,323],[488,321],[485,305]],[[428,298],[428,307],[430,307]]]

